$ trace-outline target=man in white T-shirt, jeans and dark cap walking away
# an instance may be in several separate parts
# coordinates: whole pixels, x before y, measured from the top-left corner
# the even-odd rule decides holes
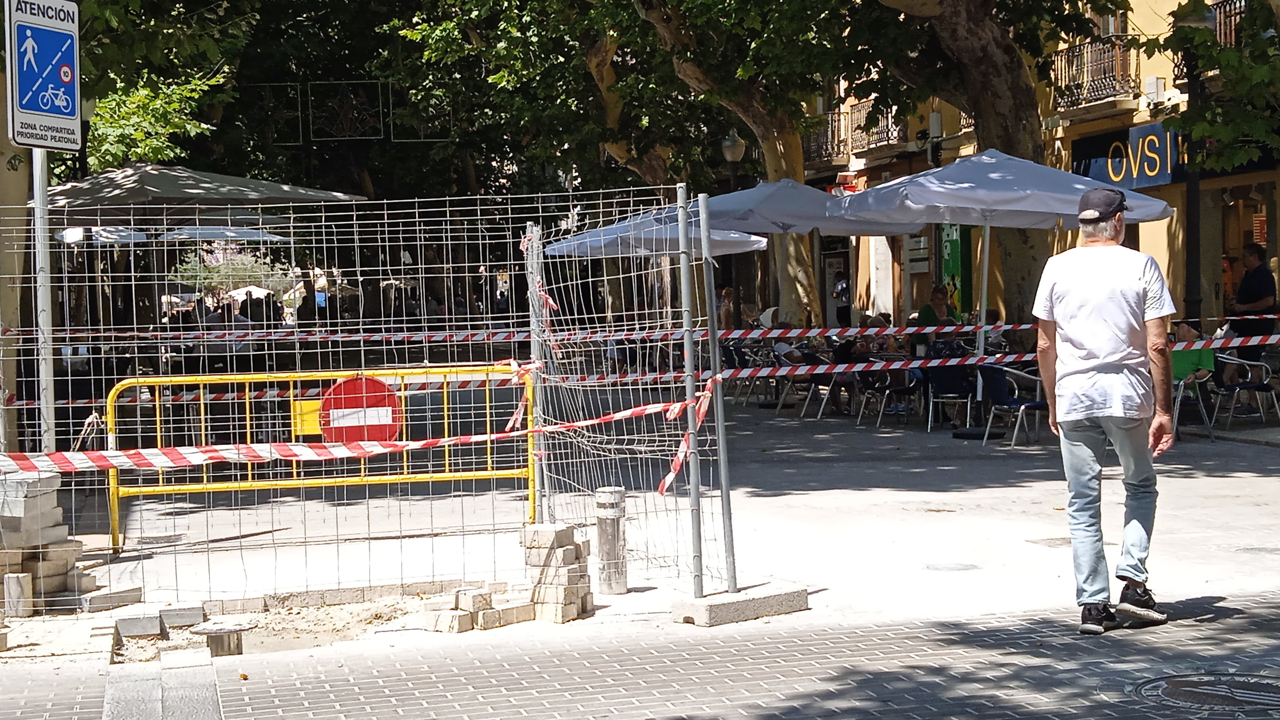
[[[1124,193],[1093,188],[1080,197],[1080,243],[1048,260],[1036,292],[1037,356],[1066,471],[1075,600],[1080,632],[1101,634],[1116,614],[1162,623],[1147,589],[1156,516],[1152,459],[1174,442],[1169,337],[1174,301],[1149,255],[1120,245]],[[1111,611],[1102,551],[1102,456],[1107,441],[1124,468],[1124,539]]]

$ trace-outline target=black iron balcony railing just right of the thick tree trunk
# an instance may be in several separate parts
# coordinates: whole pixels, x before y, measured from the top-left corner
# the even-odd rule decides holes
[[[1053,54],[1059,110],[1103,100],[1132,99],[1139,92],[1138,50],[1128,35],[1110,35]]]

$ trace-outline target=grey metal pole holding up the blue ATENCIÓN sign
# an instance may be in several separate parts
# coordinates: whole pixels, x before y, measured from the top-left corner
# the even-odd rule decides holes
[[[54,283],[49,254],[49,151],[31,151],[32,242],[36,246],[36,356],[40,396],[40,448],[58,450],[54,424]]]

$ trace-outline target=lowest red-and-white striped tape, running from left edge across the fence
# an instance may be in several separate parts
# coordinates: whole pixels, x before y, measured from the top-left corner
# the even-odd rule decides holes
[[[676,420],[686,407],[691,404],[696,405],[699,402],[704,402],[705,397],[709,397],[709,391],[698,393],[698,397],[694,400],[653,402],[649,405],[630,407],[618,413],[611,413],[599,418],[591,418],[589,420],[559,423],[556,425],[525,428],[500,433],[452,436],[403,442],[262,442],[82,452],[9,452],[0,454],[0,471],[77,473],[84,470],[109,470],[113,468],[119,470],[156,470],[192,468],[209,462],[270,462],[271,460],[312,462],[374,457],[376,455],[410,452],[413,450],[426,450],[431,447],[498,442],[529,434],[559,433],[589,428],[593,425],[603,425],[605,423],[616,423],[628,418],[641,418],[645,415],[663,414],[668,420]]]

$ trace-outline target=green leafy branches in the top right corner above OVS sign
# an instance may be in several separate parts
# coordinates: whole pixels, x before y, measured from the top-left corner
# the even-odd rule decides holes
[[[1203,15],[1203,0],[1179,5],[1179,17]],[[1142,44],[1147,56],[1170,53],[1196,58],[1203,79],[1197,108],[1172,108],[1165,127],[1199,141],[1188,163],[1230,170],[1280,154],[1280,36],[1267,0],[1249,0],[1234,44],[1219,42],[1212,28],[1176,27]]]

